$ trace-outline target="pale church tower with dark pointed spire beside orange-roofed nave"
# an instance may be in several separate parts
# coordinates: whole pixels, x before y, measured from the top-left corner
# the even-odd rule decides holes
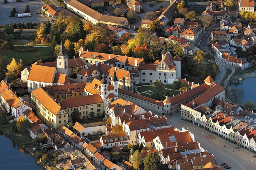
[[[61,41],[59,54],[57,55],[57,72],[68,75],[68,54],[65,52],[65,47]]]

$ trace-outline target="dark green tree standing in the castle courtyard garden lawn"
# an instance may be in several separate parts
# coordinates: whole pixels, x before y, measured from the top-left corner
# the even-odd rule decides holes
[[[152,83],[153,94],[151,95],[151,97],[155,100],[163,100],[165,98],[163,94],[164,89],[165,85],[163,84],[163,82],[161,80],[155,79],[154,82]]]

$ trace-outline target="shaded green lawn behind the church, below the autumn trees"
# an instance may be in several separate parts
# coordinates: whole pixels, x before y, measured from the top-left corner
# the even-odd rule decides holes
[[[23,65],[27,65],[30,60],[39,60],[40,58],[47,58],[47,56],[53,56],[53,50],[51,47],[38,48],[37,52],[16,52],[14,50],[2,50],[0,49],[0,55],[6,56],[6,59],[15,58],[18,62],[22,60]]]

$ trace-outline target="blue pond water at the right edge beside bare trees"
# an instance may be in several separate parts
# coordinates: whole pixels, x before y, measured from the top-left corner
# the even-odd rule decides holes
[[[238,85],[231,86],[244,90],[244,97],[240,100],[242,103],[245,103],[246,100],[252,100],[256,104],[256,77],[243,79]]]

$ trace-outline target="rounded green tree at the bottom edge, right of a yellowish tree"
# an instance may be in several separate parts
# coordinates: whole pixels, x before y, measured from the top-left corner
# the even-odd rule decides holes
[[[145,170],[160,170],[161,159],[156,152],[149,153],[144,160]]]

